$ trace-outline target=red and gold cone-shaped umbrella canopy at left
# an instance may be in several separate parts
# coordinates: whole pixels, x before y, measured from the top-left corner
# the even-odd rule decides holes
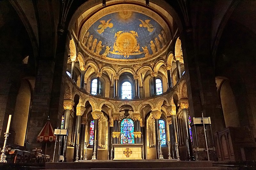
[[[37,136],[38,142],[52,142],[56,140],[56,136],[54,135],[54,131],[52,129],[52,125],[50,121],[47,121],[44,125],[44,128],[41,130],[39,135]]]

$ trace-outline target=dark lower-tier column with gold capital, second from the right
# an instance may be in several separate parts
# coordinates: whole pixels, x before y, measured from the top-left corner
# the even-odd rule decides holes
[[[175,106],[172,106],[169,114],[171,115],[171,119],[172,119],[172,134],[173,134],[173,148],[172,148],[173,151],[172,152],[174,152],[173,159],[177,159],[177,151],[176,151],[175,143],[178,143],[178,127],[177,127],[176,107]]]

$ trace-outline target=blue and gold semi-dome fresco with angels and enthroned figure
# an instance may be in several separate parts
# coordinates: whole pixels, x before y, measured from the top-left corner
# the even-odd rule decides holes
[[[159,15],[130,4],[97,12],[84,23],[80,33],[80,43],[87,54],[119,63],[154,58],[170,41],[170,30]]]

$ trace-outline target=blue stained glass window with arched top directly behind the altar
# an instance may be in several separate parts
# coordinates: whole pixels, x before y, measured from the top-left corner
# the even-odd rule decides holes
[[[132,119],[126,118],[121,122],[121,144],[134,144],[134,124]]]

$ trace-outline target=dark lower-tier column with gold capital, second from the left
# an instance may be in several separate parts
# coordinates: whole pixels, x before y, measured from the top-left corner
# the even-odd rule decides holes
[[[85,107],[77,106],[76,107],[76,161],[80,159],[79,148],[80,148],[80,131],[81,131],[81,120],[84,114]]]

